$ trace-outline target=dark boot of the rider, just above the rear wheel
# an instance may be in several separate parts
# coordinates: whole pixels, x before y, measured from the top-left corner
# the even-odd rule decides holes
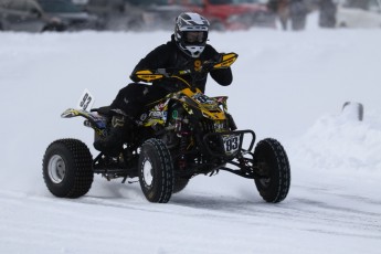
[[[115,115],[112,118],[109,134],[94,142],[94,148],[109,156],[118,156],[125,142],[126,133],[131,128],[131,120],[124,115]]]

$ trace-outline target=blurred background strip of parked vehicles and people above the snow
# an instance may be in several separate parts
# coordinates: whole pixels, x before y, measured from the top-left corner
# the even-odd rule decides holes
[[[381,28],[381,0],[0,0],[0,31],[172,30],[183,11],[214,31],[300,31],[316,12],[321,28]]]

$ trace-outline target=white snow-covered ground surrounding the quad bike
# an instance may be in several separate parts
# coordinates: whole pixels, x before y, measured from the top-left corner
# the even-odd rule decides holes
[[[240,54],[229,87],[239,128],[278,139],[289,156],[285,201],[265,203],[252,180],[199,176],[167,204],[149,203],[137,182],[95,177],[80,199],[44,186],[50,142],[92,148],[82,119],[63,119],[84,88],[112,102],[135,64],[170,33],[0,33],[0,253],[335,253],[381,248],[379,30],[256,29],[210,34]],[[363,121],[341,113],[364,106]],[[352,112],[349,112],[352,113]]]

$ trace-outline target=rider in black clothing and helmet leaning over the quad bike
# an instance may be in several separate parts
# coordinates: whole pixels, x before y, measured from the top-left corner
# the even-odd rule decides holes
[[[200,70],[205,61],[218,62],[221,54],[207,44],[209,21],[193,12],[183,12],[176,18],[174,33],[166,44],[156,47],[136,65],[130,78],[135,82],[121,88],[110,105],[113,118],[109,135],[94,142],[94,147],[105,154],[116,154],[126,141],[125,134],[134,127],[135,119],[145,105],[156,102],[167,94],[181,89],[171,78],[154,81],[152,85],[138,83],[136,73],[141,70]],[[209,66],[211,68],[211,66]],[[200,72],[194,85],[203,93],[208,73],[222,86],[232,83],[230,67]],[[182,76],[191,83],[190,75]]]

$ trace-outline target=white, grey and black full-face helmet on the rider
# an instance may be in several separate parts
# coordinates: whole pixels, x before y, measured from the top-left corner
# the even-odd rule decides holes
[[[209,21],[194,12],[183,12],[176,18],[174,40],[186,54],[199,57],[207,45]]]

